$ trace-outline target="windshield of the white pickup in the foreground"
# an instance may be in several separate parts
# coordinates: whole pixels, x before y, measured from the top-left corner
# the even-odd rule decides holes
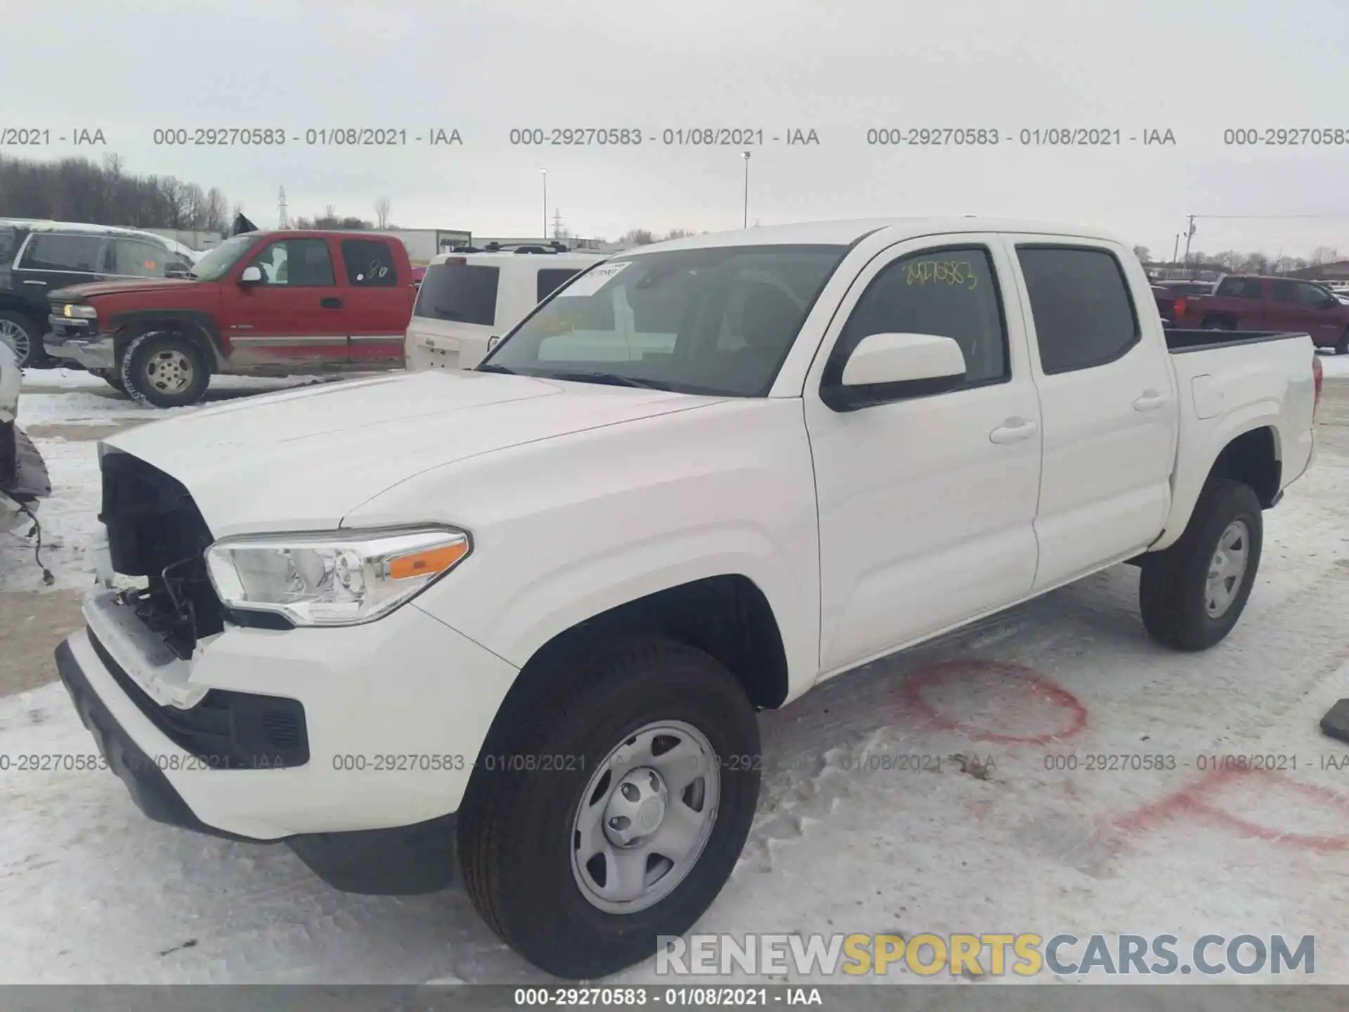
[[[764,397],[844,246],[704,247],[581,274],[484,371]]]

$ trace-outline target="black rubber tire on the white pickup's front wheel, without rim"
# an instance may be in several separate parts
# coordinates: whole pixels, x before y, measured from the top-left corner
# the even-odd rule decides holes
[[[544,664],[532,672],[538,688],[509,700],[488,735],[460,808],[459,860],[473,907],[502,940],[557,977],[595,978],[650,957],[657,936],[688,931],[722,891],[758,804],[758,721],[735,677],[683,644],[625,641]],[[669,895],[607,912],[573,874],[573,820],[610,752],[664,721],[706,735],[719,757],[720,800],[703,850]],[[577,768],[523,772],[510,768],[511,756],[560,756]]]

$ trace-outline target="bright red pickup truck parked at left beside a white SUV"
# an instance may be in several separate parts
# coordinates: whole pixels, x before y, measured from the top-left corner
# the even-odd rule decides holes
[[[196,403],[212,374],[397,368],[417,289],[393,236],[247,232],[181,278],[59,289],[47,355],[144,405]]]

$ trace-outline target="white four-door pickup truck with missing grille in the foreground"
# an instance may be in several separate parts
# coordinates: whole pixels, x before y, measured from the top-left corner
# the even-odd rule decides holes
[[[476,370],[107,440],[104,588],[57,664],[151,818],[352,891],[457,864],[517,951],[595,977],[720,891],[757,710],[1122,561],[1156,640],[1222,640],[1319,393],[1306,335],[1164,332],[1087,229],[650,246]]]

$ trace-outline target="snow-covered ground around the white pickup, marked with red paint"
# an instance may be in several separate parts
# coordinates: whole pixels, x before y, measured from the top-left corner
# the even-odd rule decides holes
[[[1322,363],[1318,456],[1267,515],[1222,646],[1156,648],[1118,567],[765,715],[759,812],[697,930],[1310,934],[1314,980],[1349,982],[1349,746],[1317,729],[1349,696],[1349,356]],[[73,436],[147,413],[98,381],[26,382],[20,424],[55,482],[45,557],[58,588],[85,586],[97,472]],[[40,588],[23,557],[0,545],[0,591]],[[0,984],[540,980],[459,889],[339,893],[285,847],[146,820],[107,772],[13,761],[92,752],[59,684],[0,698]],[[1089,770],[1098,754],[1175,768]]]

